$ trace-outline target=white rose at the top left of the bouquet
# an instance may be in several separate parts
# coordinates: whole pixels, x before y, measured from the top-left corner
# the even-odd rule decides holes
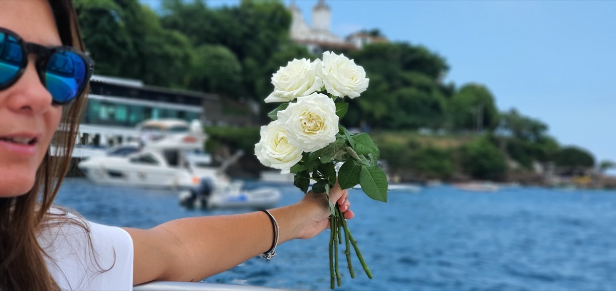
[[[289,102],[320,91],[323,88],[323,80],[317,76],[320,70],[321,60],[311,63],[306,58],[293,60],[284,68],[281,66],[272,76],[274,92],[265,98],[265,102]]]

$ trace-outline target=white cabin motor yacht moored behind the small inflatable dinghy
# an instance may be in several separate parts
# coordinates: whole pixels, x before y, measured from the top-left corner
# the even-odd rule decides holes
[[[200,126],[177,119],[145,121],[139,126],[140,145],[123,146],[79,162],[79,169],[97,184],[182,189],[201,177],[216,178],[217,170],[201,153],[206,140]],[[197,169],[197,166],[199,169]]]

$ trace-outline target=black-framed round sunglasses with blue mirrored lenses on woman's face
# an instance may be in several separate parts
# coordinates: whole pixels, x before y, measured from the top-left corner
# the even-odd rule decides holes
[[[94,61],[73,47],[44,47],[23,41],[13,31],[0,27],[0,90],[17,82],[28,65],[28,55],[36,58],[41,83],[51,94],[53,105],[73,102],[87,87]]]

